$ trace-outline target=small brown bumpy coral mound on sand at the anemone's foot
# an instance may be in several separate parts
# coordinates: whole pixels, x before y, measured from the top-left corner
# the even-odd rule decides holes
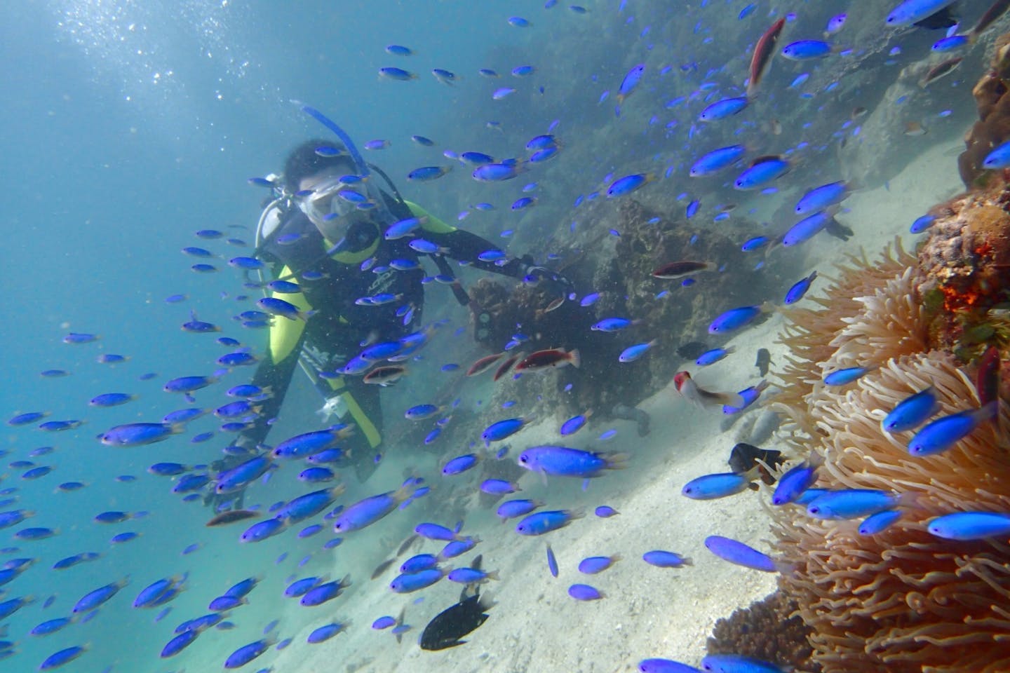
[[[706,646],[708,654],[739,654],[819,673],[820,666],[810,660],[810,627],[795,614],[797,607],[786,593],[776,591],[735,610],[715,623]]]

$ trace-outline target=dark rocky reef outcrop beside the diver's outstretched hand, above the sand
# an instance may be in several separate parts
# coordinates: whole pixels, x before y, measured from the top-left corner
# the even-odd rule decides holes
[[[539,396],[541,404],[562,405],[545,410],[548,413],[596,410],[606,414],[617,404],[633,406],[670,383],[683,361],[677,353],[679,346],[687,342],[719,345],[707,333],[711,317],[735,306],[760,304],[786,284],[775,263],[755,268],[761,253],[750,253],[753,257],[746,263],[704,271],[686,283],[653,277],[652,271],[670,261],[736,259],[746,254],[738,241],[760,231],[743,218],[721,231],[704,229],[674,214],[683,212],[683,205],[672,199],[664,205],[669,210],[652,210],[634,200],[587,209],[591,224],[585,229],[604,233],[570,241],[563,248],[567,253],[560,255],[563,261],[553,267],[582,291],[573,301],[552,305],[558,294],[542,284],[511,291],[483,278],[471,289],[482,309],[475,332],[489,348],[521,333],[526,340],[517,351],[565,348],[580,352],[579,369],[566,372],[566,381],[573,384],[568,394],[559,395],[560,379],[548,374],[499,381],[500,396],[521,395],[531,400]],[[557,246],[558,242],[551,245]],[[581,299],[589,294],[599,294],[599,299],[582,306]],[[633,319],[634,324],[618,332],[592,329],[597,321],[612,317]],[[621,351],[645,341],[646,333],[654,337],[649,352],[637,361],[620,363]]]

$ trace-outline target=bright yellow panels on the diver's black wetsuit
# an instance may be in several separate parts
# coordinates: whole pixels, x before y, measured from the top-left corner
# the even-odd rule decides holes
[[[421,225],[422,230],[438,234],[446,234],[456,231],[456,227],[446,224],[437,217],[434,217],[417,204],[409,201],[404,203],[406,203],[414,217],[424,218],[423,224]],[[332,259],[342,264],[359,264],[376,251],[376,248],[379,247],[380,240],[381,239],[377,238],[372,245],[358,252],[339,252],[333,255]],[[331,243],[324,242],[324,245],[329,246]],[[281,271],[281,277],[293,275],[293,273],[292,269],[285,266]],[[298,310],[302,313],[307,313],[312,310],[312,305],[309,304],[304,294],[299,293],[297,295],[279,296],[277,293],[274,293],[273,296],[293,304],[298,307]],[[346,322],[342,317],[339,319]],[[274,364],[284,361],[293,354],[297,357],[297,353],[294,353],[294,350],[295,346],[298,345],[298,340],[301,338],[302,331],[304,329],[305,321],[287,320],[281,319],[280,317],[274,319],[274,324],[270,328],[270,358]],[[315,382],[318,382],[319,378],[317,376],[315,376]],[[337,390],[340,390],[346,385],[343,381],[343,376],[339,376],[337,378],[326,378],[324,380],[329,384],[330,389],[333,390],[333,392],[337,392]],[[350,416],[354,418],[358,429],[363,432],[366,439],[369,440],[369,445],[373,448],[379,446],[380,442],[382,442],[382,434],[379,432],[379,429],[376,428],[372,420],[365,415],[365,410],[363,410],[361,405],[358,404],[355,397],[346,390],[343,392],[337,392],[337,395],[339,395],[343,404],[347,406],[347,411],[350,412]]]

